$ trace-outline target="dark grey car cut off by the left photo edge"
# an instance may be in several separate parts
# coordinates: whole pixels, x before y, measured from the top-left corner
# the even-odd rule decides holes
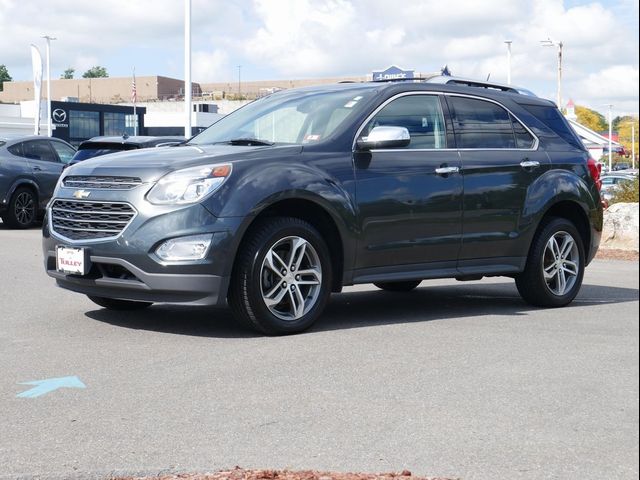
[[[76,149],[40,136],[0,137],[0,217],[11,228],[28,228],[41,218],[62,169]]]

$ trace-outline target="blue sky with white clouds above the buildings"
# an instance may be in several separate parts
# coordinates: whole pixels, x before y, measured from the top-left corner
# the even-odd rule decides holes
[[[29,45],[52,42],[52,78],[94,65],[109,75],[184,78],[184,0],[0,0],[0,64],[31,79]],[[192,0],[195,82],[366,75],[444,65],[563,103],[638,114],[638,0]]]

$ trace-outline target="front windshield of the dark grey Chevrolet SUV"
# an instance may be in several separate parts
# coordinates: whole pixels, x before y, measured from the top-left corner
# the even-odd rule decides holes
[[[285,91],[261,98],[223,117],[190,144],[307,144],[329,137],[362,109],[372,88],[338,91]],[[252,144],[260,144],[254,142]]]

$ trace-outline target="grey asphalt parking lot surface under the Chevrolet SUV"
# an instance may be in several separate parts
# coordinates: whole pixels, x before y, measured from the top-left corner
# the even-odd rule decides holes
[[[637,262],[595,261],[555,310],[506,278],[347,288],[269,338],[226,310],[102,310],[44,274],[37,229],[0,224],[0,247],[0,478],[638,477]],[[18,397],[66,376],[86,388]]]

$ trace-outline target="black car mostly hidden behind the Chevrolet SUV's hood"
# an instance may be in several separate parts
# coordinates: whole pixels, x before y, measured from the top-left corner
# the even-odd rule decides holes
[[[184,137],[149,137],[144,135],[121,137],[93,137],[78,146],[78,151],[71,159],[74,165],[83,160],[110,153],[138,150],[140,148],[164,147],[184,142]]]

